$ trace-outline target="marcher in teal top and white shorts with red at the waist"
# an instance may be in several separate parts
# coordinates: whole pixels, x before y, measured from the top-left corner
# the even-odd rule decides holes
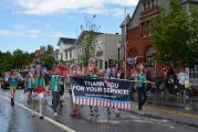
[[[44,100],[44,90],[45,90],[45,82],[42,76],[41,65],[37,64],[35,75],[34,75],[34,89],[32,92],[32,99],[33,99],[32,116],[35,116],[35,105],[37,102],[39,102],[40,119],[43,119],[42,107],[43,107],[43,100]]]

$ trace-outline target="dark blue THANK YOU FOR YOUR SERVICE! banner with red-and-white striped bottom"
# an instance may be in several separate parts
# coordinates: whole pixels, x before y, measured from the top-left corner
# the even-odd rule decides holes
[[[72,77],[73,103],[131,109],[132,81]]]

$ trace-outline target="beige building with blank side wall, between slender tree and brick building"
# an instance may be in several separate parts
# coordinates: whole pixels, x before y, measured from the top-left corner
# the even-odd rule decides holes
[[[122,35],[100,34],[94,42],[98,69],[107,69],[118,59],[123,59]]]

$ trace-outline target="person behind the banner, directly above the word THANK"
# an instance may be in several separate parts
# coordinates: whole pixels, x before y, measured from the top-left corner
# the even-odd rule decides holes
[[[88,62],[88,69],[86,72],[86,77],[88,79],[96,79],[98,77],[98,72],[96,68],[96,62],[95,59],[91,59]],[[93,111],[93,107],[94,107],[94,111]],[[90,116],[98,116],[98,109],[97,106],[90,106]]]

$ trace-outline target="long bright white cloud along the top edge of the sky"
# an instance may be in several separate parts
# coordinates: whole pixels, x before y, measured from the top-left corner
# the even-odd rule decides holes
[[[110,4],[122,8],[136,6],[137,2],[138,0],[18,0],[17,4],[22,8],[22,13],[28,14],[51,14],[73,11],[110,14],[112,13],[112,10],[107,8]]]

